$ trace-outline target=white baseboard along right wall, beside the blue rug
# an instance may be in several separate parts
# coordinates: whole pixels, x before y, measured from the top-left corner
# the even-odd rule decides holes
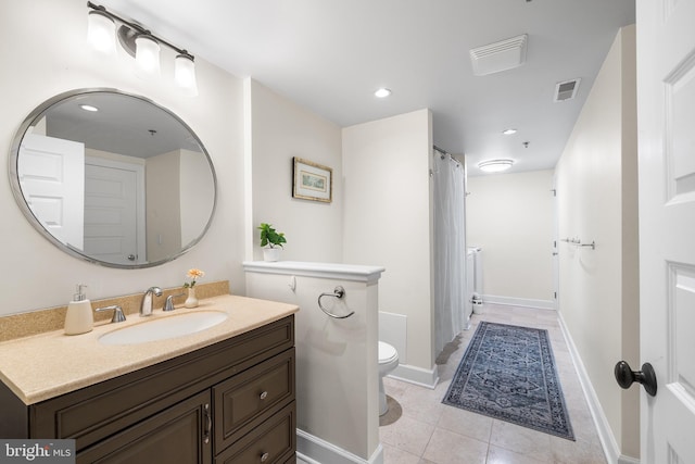
[[[596,390],[594,390],[594,387],[589,378],[589,373],[586,372],[584,363],[579,355],[577,346],[574,344],[574,341],[572,340],[572,337],[567,329],[567,325],[565,324],[565,319],[563,318],[563,313],[558,313],[558,319],[560,322],[560,329],[563,330],[563,336],[565,337],[567,348],[569,349],[570,356],[572,358],[572,362],[574,364],[574,369],[577,371],[577,375],[579,376],[579,383],[582,387],[582,391],[584,392],[584,398],[586,399],[586,403],[589,403],[589,410],[591,412],[591,416],[594,419],[594,425],[596,426],[596,431],[598,432],[598,439],[601,440],[601,446],[604,450],[604,454],[606,455],[606,461],[609,464],[640,464],[639,460],[620,454],[620,447],[618,447],[618,441],[616,440],[616,437],[612,434],[612,429],[608,424],[608,418],[604,414],[604,410],[601,406],[601,402],[598,401],[598,396],[596,394]]]

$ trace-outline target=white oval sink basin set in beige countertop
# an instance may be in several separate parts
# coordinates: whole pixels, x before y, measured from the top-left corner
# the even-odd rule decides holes
[[[104,344],[136,344],[182,337],[214,327],[227,316],[222,311],[176,314],[110,331],[99,337],[99,341]]]

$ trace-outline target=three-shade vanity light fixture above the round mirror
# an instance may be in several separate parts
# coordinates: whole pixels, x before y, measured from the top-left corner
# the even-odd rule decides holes
[[[141,25],[113,14],[102,5],[88,1],[87,7],[90,9],[87,39],[96,50],[106,53],[114,52],[115,37],[117,36],[123,49],[135,57],[138,75],[150,77],[160,74],[160,46],[164,45],[178,53],[174,66],[176,84],[187,95],[198,95],[194,57],[187,50],[173,46],[154,36]],[[116,23],[121,24],[117,32]]]

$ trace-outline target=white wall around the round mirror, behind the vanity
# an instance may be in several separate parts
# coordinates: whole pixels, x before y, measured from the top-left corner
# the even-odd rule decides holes
[[[15,130],[41,102],[77,88],[118,88],[167,108],[195,131],[217,173],[217,211],[207,235],[174,262],[148,269],[106,268],[72,258],[43,239],[21,213],[7,175],[0,176],[5,269],[0,315],[65,304],[77,283],[88,285],[92,299],[139,292],[151,285],[181,285],[190,267],[205,271],[205,280],[230,279],[232,291],[243,289],[242,81],[197,58],[200,96],[188,98],[173,84],[173,53],[163,52],[162,78],[146,81],[135,76],[130,57],[110,59],[92,51],[86,32],[83,0],[1,3],[0,58],[7,66],[0,73],[0,165],[8,165]]]

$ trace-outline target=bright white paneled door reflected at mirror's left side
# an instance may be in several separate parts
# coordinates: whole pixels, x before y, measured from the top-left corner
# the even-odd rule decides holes
[[[17,173],[34,216],[62,243],[83,249],[85,145],[27,134]]]

